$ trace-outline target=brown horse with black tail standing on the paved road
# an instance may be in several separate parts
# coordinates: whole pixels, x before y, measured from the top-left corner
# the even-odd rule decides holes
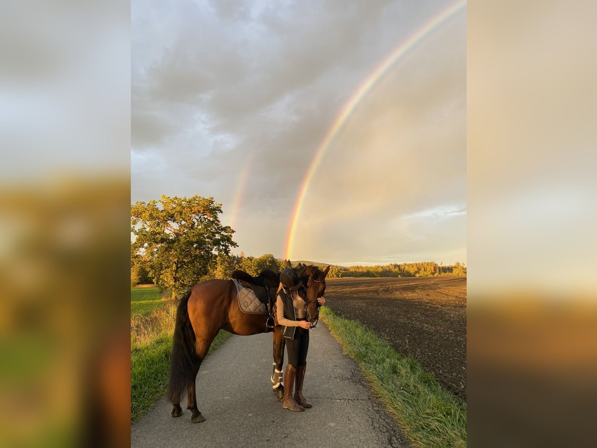
[[[325,291],[325,276],[330,266],[320,271],[316,266],[299,265],[294,269],[307,289],[307,320],[316,323],[319,319],[318,297]],[[277,288],[278,284],[268,285]],[[237,291],[232,280],[207,280],[191,287],[181,298],[176,312],[172,353],[170,356],[170,378],[166,397],[173,404],[171,415],[180,417],[181,395],[187,389],[187,409],[192,412],[191,422],[201,423],[204,416],[197,409],[195,380],[199,367],[210,349],[211,342],[220,330],[233,335],[251,336],[273,332],[273,359],[278,372],[284,363],[284,337],[282,327],[274,309],[275,326],[266,326],[267,314],[245,314],[238,305]],[[273,377],[272,377],[273,381]],[[274,392],[281,398],[282,385]]]

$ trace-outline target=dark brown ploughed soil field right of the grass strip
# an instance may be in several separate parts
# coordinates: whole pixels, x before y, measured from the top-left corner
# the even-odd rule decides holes
[[[325,299],[466,401],[466,277],[330,278]]]

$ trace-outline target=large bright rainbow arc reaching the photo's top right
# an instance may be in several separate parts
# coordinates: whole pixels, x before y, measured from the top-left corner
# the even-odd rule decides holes
[[[381,77],[387,72],[390,67],[392,67],[402,56],[404,56],[408,50],[413,48],[417,42],[421,41],[421,39],[425,38],[429,33],[433,32],[437,27],[439,27],[442,23],[446,20],[453,17],[459,11],[463,10],[466,7],[465,0],[458,0],[454,4],[448,6],[443,11],[436,14],[436,16],[432,17],[429,21],[423,24],[419,29],[413,32],[408,38],[402,41],[398,47],[396,47],[389,56],[386,57],[374,70],[367,76],[365,81],[359,86],[359,88],[352,94],[350,99],[344,104],[340,113],[336,116],[336,119],[332,123],[331,127],[328,129],[327,133],[325,134],[324,139],[319,145],[319,148],[315,152],[313,159],[307,169],[307,172],[303,178],[303,182],[301,183],[300,189],[298,191],[297,200],[294,204],[293,211],[291,213],[291,220],[290,225],[288,226],[288,232],[286,237],[286,244],[285,244],[285,253],[284,258],[290,259],[293,246],[294,246],[294,237],[296,234],[297,229],[297,222],[298,216],[303,208],[303,201],[307,195],[307,190],[309,189],[309,183],[313,178],[313,174],[317,169],[319,162],[321,161],[322,156],[324,155],[325,151],[330,146],[331,141],[336,137],[336,134],[341,130],[346,123],[346,120],[355,111],[356,106],[359,105],[361,100],[364,96],[377,84],[377,82],[381,79]]]

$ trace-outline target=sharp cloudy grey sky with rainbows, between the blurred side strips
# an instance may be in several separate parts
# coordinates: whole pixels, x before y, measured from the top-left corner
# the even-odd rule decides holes
[[[213,197],[244,251],[466,263],[466,6],[137,1],[131,202]]]

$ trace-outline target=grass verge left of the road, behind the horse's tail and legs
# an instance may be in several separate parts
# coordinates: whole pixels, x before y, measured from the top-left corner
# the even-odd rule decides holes
[[[177,305],[162,301],[149,314],[131,315],[131,423],[138,421],[166,391]],[[230,336],[220,330],[208,356]]]

